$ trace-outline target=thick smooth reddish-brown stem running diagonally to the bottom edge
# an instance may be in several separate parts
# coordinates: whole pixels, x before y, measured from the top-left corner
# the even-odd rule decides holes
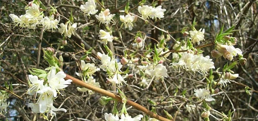
[[[104,89],[95,87],[93,85],[90,85],[88,83],[85,83],[85,82],[83,82],[81,80],[76,79],[75,77],[72,77],[72,76],[68,75],[68,74],[66,74],[65,79],[66,80],[71,79],[71,80],[73,80],[72,83],[74,83],[74,84],[76,84],[78,86],[82,86],[82,87],[87,88],[89,90],[92,90],[94,92],[103,94],[103,95],[108,96],[108,97],[112,97],[112,98],[116,99],[119,102],[122,102],[122,99],[117,94],[111,93],[111,92],[109,92],[107,90],[104,90]],[[134,108],[136,108],[138,110],[141,110],[142,112],[146,113],[147,115],[151,116],[152,118],[158,119],[160,121],[173,121],[173,120],[170,120],[170,119],[166,119],[166,118],[164,118],[162,116],[159,116],[159,115],[151,112],[150,110],[146,109],[145,107],[143,107],[143,106],[141,106],[141,105],[139,105],[137,103],[134,103],[131,100],[127,100],[127,105],[133,106]]]

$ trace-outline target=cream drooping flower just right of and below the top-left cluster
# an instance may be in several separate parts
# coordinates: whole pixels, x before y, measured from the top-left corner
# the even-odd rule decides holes
[[[71,38],[72,34],[76,31],[77,23],[71,25],[70,23],[66,22],[66,24],[61,23],[60,29],[58,30],[62,35],[64,34],[65,37]]]

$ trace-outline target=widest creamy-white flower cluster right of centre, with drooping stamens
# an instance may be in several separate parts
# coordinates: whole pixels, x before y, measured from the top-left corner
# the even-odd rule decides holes
[[[175,67],[179,67],[179,70],[182,67],[187,71],[202,71],[204,73],[207,73],[208,70],[211,68],[215,68],[214,63],[209,56],[203,57],[187,52],[184,52],[179,61],[177,63],[172,63],[172,65]]]

